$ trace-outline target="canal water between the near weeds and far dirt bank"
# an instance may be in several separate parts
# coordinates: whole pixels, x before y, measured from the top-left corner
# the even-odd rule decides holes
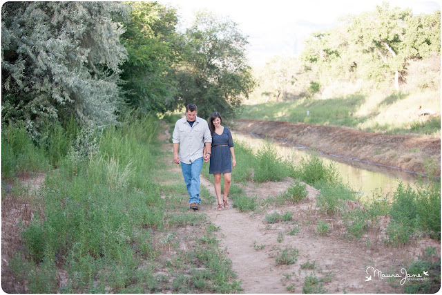
[[[253,133],[244,133],[240,131],[231,131],[234,142],[246,142],[253,152],[265,143],[265,137]],[[301,160],[313,151],[307,146],[285,142],[284,140],[270,139],[272,146],[275,147],[278,155],[282,159]],[[323,159],[325,164],[333,162],[342,176],[344,182],[349,183],[354,191],[358,192],[363,200],[372,200],[372,198],[388,198],[392,200],[393,193],[398,187],[399,181],[403,184],[410,184],[415,187],[418,175],[408,173],[399,169],[387,166],[378,166],[376,164],[367,164],[357,160],[348,160],[343,157],[327,155],[325,153],[316,153]]]

